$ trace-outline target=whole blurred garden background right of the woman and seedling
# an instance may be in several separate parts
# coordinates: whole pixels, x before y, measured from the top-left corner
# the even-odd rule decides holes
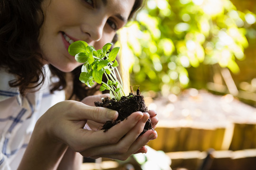
[[[147,0],[116,45],[126,92],[159,118],[116,169],[256,170],[256,0]]]

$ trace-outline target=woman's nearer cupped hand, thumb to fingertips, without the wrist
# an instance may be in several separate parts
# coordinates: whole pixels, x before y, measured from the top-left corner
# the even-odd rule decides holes
[[[47,110],[40,121],[47,122],[46,130],[52,140],[67,144],[85,157],[125,160],[133,153],[146,153],[144,146],[157,136],[154,130],[139,136],[150,117],[148,113],[134,112],[107,132],[83,128],[87,120],[102,124],[117,117],[117,111],[64,101]]]

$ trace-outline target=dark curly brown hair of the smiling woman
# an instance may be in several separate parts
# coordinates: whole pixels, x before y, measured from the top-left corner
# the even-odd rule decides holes
[[[39,30],[44,22],[41,8],[43,0],[0,0],[0,67],[6,68],[17,79],[9,82],[11,87],[18,87],[22,95],[26,90],[42,85],[45,80],[45,70],[41,63],[39,52]],[[130,16],[142,6],[143,0],[135,0]],[[117,37],[115,36],[113,42]],[[82,67],[82,66],[81,66]],[[81,67],[72,71],[72,96],[82,100],[93,94],[98,87],[86,88],[79,81]],[[63,90],[67,86],[66,73],[49,65],[53,76],[59,78],[52,84],[51,92]],[[33,84],[34,86],[29,86]]]

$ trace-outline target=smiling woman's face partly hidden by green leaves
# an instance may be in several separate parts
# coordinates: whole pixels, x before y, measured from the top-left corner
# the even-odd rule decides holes
[[[87,42],[95,49],[111,42],[123,27],[135,0],[44,0],[45,20],[39,43],[44,63],[69,72],[81,65],[68,53],[70,43]]]

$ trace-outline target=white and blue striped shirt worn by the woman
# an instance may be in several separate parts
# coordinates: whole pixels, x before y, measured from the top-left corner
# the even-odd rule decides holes
[[[50,71],[39,91],[21,96],[9,86],[15,76],[0,68],[0,170],[16,170],[37,119],[51,106],[65,99],[64,91],[49,92]]]

